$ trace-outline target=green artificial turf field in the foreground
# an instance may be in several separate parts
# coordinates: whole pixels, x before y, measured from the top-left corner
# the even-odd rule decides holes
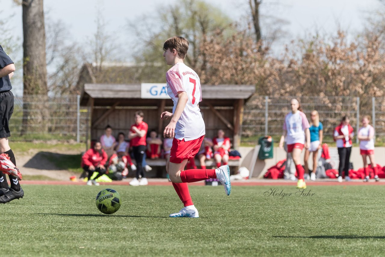
[[[23,256],[383,256],[385,190],[379,185],[190,186],[200,218],[179,210],[170,186],[111,186],[122,197],[112,215],[95,206],[106,186],[25,185],[0,205],[2,249]],[[265,196],[270,188],[293,193]],[[278,192],[277,192],[278,193]],[[15,252],[17,249],[17,252]]]

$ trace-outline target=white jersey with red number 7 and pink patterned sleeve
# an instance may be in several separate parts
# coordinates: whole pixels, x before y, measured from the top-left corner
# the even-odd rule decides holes
[[[181,117],[176,123],[175,138],[185,141],[200,138],[205,134],[205,126],[201,110],[198,107],[202,101],[201,82],[198,75],[184,63],[177,63],[166,73],[167,94],[174,102],[172,113],[178,102],[178,92],[184,91],[189,97]]]

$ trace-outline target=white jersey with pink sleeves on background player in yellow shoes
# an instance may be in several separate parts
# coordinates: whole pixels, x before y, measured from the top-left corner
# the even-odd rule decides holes
[[[283,129],[287,131],[287,144],[305,144],[305,129],[310,128],[309,121],[306,119],[305,113],[297,111],[296,113],[288,113],[285,116]]]

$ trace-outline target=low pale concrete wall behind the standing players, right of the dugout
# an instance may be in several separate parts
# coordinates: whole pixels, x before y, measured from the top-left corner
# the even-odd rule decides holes
[[[239,153],[241,153],[241,165],[248,169],[251,168],[251,159],[253,156],[254,147],[240,147]],[[338,169],[338,152],[336,147],[329,147],[330,157],[333,161],[333,168]],[[376,147],[375,148],[375,161],[381,165],[385,166],[385,147]],[[302,164],[303,164],[303,156],[305,155],[305,151],[302,151]],[[286,152],[285,150],[275,147],[274,148],[274,155],[273,159],[267,159],[267,160],[259,160],[257,159],[254,171],[253,171],[253,177],[258,177],[261,174],[264,174],[268,168],[271,166],[274,166],[278,161],[286,159]],[[350,156],[350,161],[353,163],[353,167],[355,170],[358,170],[359,168],[363,167],[362,164],[362,157],[360,155],[360,148],[359,147],[353,147],[352,148],[352,155]],[[313,161],[312,156],[310,156],[308,161],[309,167],[313,167]],[[312,169],[312,168],[311,168]]]

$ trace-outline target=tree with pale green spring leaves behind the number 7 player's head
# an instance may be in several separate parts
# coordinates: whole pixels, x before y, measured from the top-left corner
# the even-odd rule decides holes
[[[144,16],[141,22],[129,23],[130,29],[141,39],[141,48],[134,58],[137,63],[143,64],[140,77],[147,82],[164,80],[167,66],[162,66],[162,46],[167,38],[179,35],[189,40],[186,63],[201,70],[208,67],[208,59],[200,45],[218,30],[228,32],[224,33],[228,35],[234,30],[233,20],[219,8],[201,0],[181,0],[177,6],[165,5],[159,8],[155,18],[151,17],[151,21],[155,20],[154,24],[149,24],[148,20],[149,17]]]

